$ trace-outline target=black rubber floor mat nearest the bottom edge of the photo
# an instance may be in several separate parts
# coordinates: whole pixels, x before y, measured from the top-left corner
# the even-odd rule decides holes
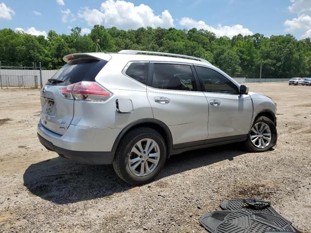
[[[209,233],[297,233],[282,216],[247,211],[216,210],[200,217],[200,223]]]

